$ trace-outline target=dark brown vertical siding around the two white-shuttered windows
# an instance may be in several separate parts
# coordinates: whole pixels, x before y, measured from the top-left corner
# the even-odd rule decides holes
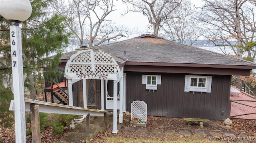
[[[211,93],[184,92],[186,74],[159,73],[161,84],[157,90],[146,90],[142,84],[142,74],[146,72],[126,72],[126,106],[131,110],[134,100],[148,104],[148,116],[168,116],[178,118],[226,119],[230,116],[229,100],[231,76],[212,76]],[[222,112],[223,111],[223,112]]]

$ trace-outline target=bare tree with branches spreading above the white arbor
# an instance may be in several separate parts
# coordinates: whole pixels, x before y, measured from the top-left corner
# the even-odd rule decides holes
[[[80,45],[88,44],[92,47],[110,39],[129,36],[127,28],[119,26],[121,30],[118,30],[115,24],[107,19],[107,16],[116,10],[113,0],[55,0],[52,7],[55,12],[66,18],[68,29],[74,33]],[[108,32],[102,25],[108,25]],[[105,28],[104,34],[100,33],[104,31],[102,28]]]

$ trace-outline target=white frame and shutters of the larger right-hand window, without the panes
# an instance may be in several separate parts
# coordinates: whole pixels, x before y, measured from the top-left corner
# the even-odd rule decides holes
[[[198,87],[197,86],[190,86],[191,78],[206,78],[206,87]],[[196,75],[186,75],[185,76],[185,88],[184,92],[207,92],[211,93],[212,88],[212,76],[196,76]]]

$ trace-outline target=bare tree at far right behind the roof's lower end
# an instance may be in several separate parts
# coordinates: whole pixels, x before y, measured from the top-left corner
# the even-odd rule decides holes
[[[244,49],[255,41],[255,0],[204,0],[198,16],[208,31],[205,37],[216,46],[230,47],[239,59],[246,50],[247,57],[255,57],[255,47]],[[232,41],[236,41],[232,43]],[[225,49],[222,49],[226,53]],[[253,56],[252,56],[253,54]]]

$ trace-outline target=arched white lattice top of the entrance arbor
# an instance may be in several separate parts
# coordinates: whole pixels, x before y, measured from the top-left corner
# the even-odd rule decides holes
[[[120,67],[107,53],[98,49],[78,51],[65,67],[67,78],[111,79],[121,77]]]

